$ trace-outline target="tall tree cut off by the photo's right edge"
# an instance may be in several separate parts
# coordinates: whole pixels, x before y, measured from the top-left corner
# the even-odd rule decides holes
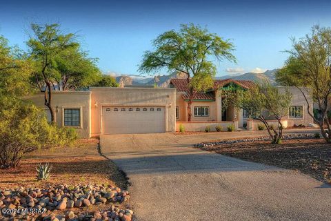
[[[276,79],[279,84],[296,86],[301,91],[307,102],[308,114],[319,124],[324,139],[331,143],[328,121],[331,99],[331,28],[313,26],[310,35],[305,35],[299,41],[292,39],[292,49],[287,52],[290,57],[276,74]],[[311,111],[307,97],[309,91],[319,106],[320,115],[314,115]]]

